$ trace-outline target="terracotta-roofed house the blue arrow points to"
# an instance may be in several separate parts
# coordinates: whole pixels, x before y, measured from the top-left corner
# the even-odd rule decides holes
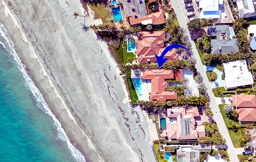
[[[183,78],[182,69],[176,70],[145,70],[142,74],[142,79],[151,80],[150,100],[166,101],[178,98],[175,91],[165,91],[168,83],[165,79],[181,80]]]

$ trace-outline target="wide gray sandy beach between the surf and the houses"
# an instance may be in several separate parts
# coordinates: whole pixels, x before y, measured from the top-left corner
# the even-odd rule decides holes
[[[0,0],[0,23],[87,162],[154,162],[142,111],[122,102],[127,92],[106,43],[72,16],[83,11],[79,0]]]

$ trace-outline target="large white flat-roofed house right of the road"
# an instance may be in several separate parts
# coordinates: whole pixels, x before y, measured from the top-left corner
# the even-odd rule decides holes
[[[226,62],[223,66],[227,89],[253,85],[252,74],[247,68],[246,60]]]

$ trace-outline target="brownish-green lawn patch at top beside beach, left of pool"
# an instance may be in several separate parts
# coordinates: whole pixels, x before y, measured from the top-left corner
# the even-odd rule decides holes
[[[109,19],[112,18],[110,15],[111,9],[108,5],[89,5],[90,8],[94,11],[94,20],[101,18],[103,23],[110,23]],[[113,18],[112,18],[113,19]]]

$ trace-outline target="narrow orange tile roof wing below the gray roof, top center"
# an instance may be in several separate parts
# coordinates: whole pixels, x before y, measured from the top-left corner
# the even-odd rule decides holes
[[[150,14],[148,16],[144,16],[142,18],[137,18],[137,19],[135,19],[134,16],[130,16],[130,17],[128,17],[128,19],[129,19],[131,25],[136,25],[136,24],[141,23],[141,21],[150,20],[150,19],[152,19],[153,25],[160,25],[160,24],[165,23],[163,12],[156,12],[154,14]]]

